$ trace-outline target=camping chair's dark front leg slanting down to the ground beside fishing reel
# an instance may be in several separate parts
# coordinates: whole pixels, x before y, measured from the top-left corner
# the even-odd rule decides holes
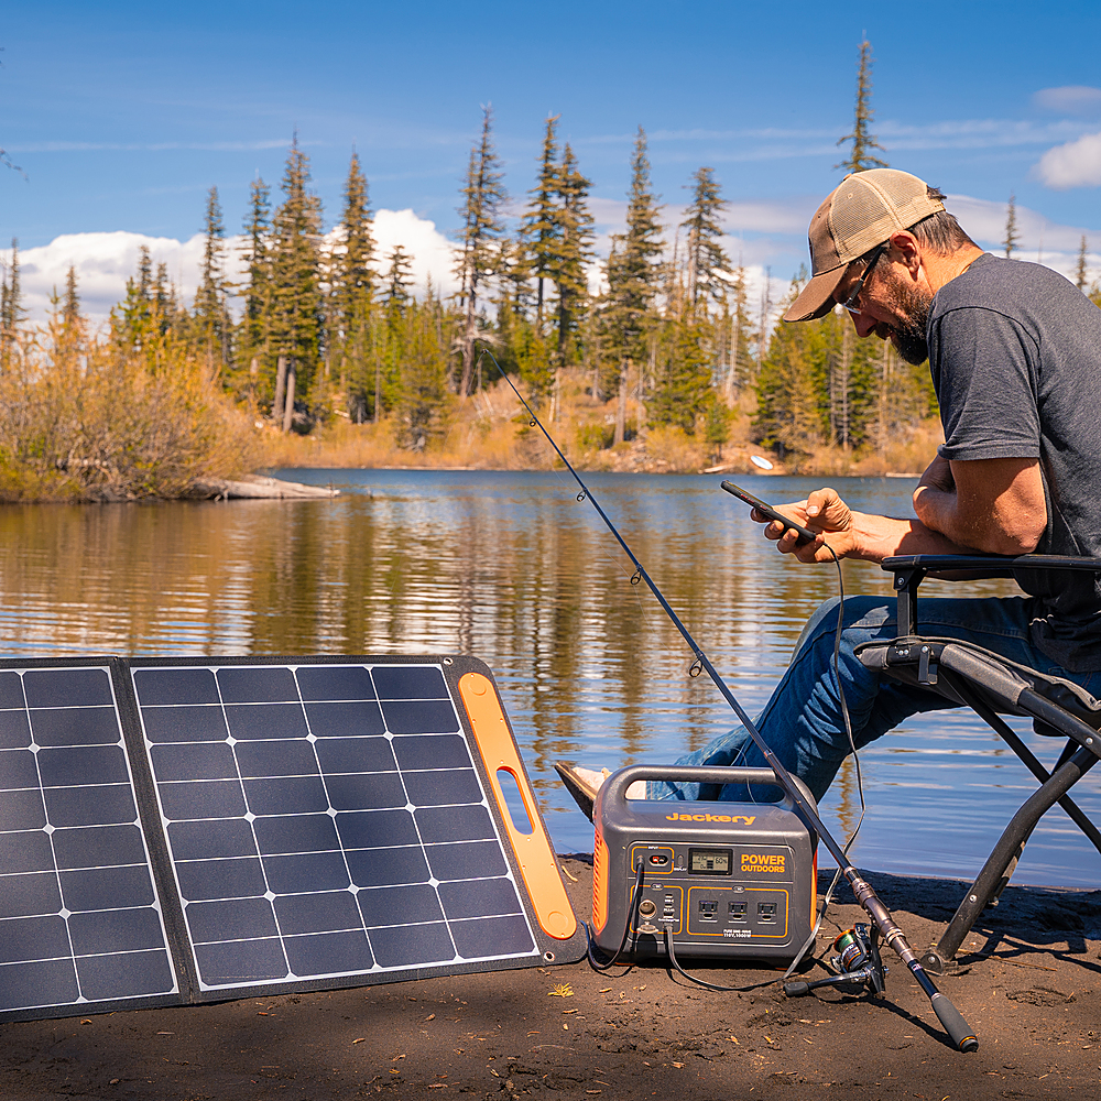
[[[990,900],[1001,892],[1006,869],[1016,862],[1036,824],[1097,764],[1097,756],[1089,750],[1079,749],[1069,761],[1051,774],[1051,778],[1043,787],[1024,802],[1021,809],[1010,819],[993,852],[982,865],[979,877],[963,896],[956,915],[948,923],[944,936],[937,941],[936,947],[922,956],[922,966],[927,971],[933,971],[935,974],[945,973],[948,962],[955,959],[963,938],[971,931],[971,926]]]

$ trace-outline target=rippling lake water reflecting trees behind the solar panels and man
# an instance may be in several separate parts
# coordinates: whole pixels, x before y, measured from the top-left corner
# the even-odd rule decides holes
[[[9,655],[469,653],[494,672],[559,851],[591,851],[554,773],[671,762],[734,724],[568,473],[284,470],[331,501],[0,509],[0,647]],[[832,565],[777,555],[720,477],[586,480],[697,642],[754,713],[799,630],[837,591]],[[810,479],[739,476],[773,502]],[[832,479],[855,508],[911,514],[914,482]],[[891,591],[844,564],[847,593]],[[926,582],[923,592],[962,587]],[[1010,581],[972,591],[1010,593]],[[1058,745],[1011,720],[1047,763]],[[917,717],[861,753],[862,868],[969,879],[1035,782],[970,711]],[[1101,770],[1075,789],[1094,820]],[[859,813],[851,763],[822,804]],[[825,851],[824,859],[828,861]],[[1059,808],[1014,882],[1095,887],[1101,855]]]

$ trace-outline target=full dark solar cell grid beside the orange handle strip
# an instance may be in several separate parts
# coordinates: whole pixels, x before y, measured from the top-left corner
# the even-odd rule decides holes
[[[203,989],[538,955],[438,666],[133,679]]]

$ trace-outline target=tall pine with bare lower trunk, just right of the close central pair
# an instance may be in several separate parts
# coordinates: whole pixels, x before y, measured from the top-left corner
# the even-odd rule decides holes
[[[606,273],[608,293],[601,304],[601,328],[607,355],[613,369],[612,389],[619,394],[615,443],[626,430],[628,371],[631,361],[646,355],[646,337],[653,328],[654,301],[662,281],[661,208],[651,189],[646,133],[639,134],[631,156],[631,192],[626,208],[626,231],[612,238]]]

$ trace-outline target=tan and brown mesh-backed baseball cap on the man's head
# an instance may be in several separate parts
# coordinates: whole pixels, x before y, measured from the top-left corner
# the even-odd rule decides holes
[[[930,199],[928,193],[924,179],[897,168],[869,168],[846,176],[810,219],[814,274],[784,320],[825,317],[837,305],[833,291],[857,257],[896,230],[909,229],[944,210],[944,203]]]

